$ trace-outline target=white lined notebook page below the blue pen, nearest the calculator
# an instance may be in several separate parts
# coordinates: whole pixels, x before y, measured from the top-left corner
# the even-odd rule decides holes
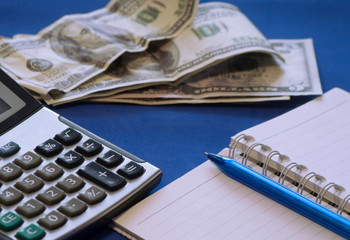
[[[143,239],[341,239],[228,178],[210,161],[115,219]]]

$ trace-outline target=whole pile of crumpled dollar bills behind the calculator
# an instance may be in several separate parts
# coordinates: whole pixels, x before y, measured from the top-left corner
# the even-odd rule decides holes
[[[284,100],[322,93],[312,39],[268,40],[234,5],[111,0],[0,38],[0,67],[47,104]]]

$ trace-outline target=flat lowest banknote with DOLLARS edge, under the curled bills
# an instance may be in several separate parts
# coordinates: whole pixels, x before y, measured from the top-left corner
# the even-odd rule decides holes
[[[247,53],[208,68],[177,86],[158,85],[126,91],[105,101],[322,94],[312,39],[270,42],[285,62],[272,55]]]

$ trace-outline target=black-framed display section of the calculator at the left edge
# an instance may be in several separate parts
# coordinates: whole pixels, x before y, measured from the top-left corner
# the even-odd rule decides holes
[[[0,136],[41,107],[40,102],[0,69]]]

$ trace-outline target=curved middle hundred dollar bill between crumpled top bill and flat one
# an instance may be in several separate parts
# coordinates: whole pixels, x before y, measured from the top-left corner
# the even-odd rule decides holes
[[[192,24],[174,39],[152,42],[141,53],[126,53],[106,72],[76,89],[67,93],[50,92],[43,98],[49,104],[60,104],[145,85],[171,83],[247,52],[279,56],[236,6],[222,2],[203,3],[199,4]]]

